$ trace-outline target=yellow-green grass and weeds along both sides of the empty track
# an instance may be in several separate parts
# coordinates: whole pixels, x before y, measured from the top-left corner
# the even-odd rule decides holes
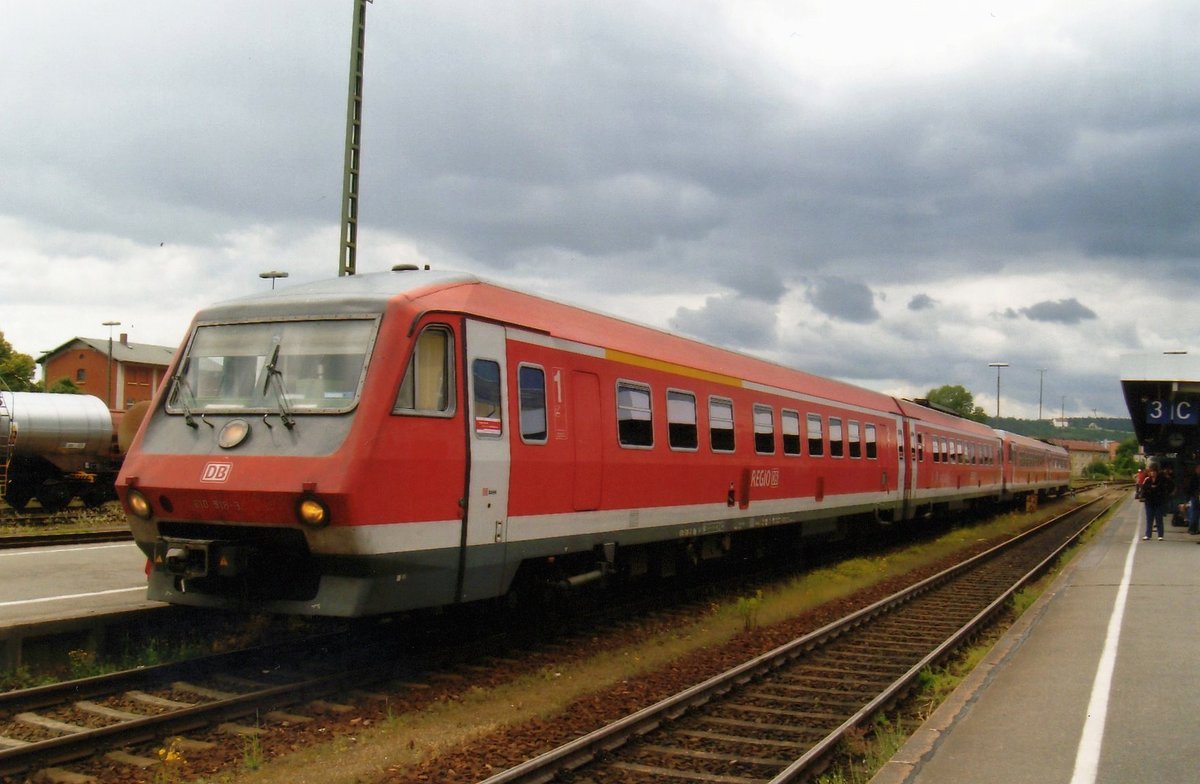
[[[721,645],[751,626],[768,626],[790,618],[888,577],[935,563],[972,545],[1003,540],[1036,521],[1049,519],[1054,508],[1048,507],[1033,515],[1003,515],[986,523],[949,531],[931,541],[816,569],[762,594],[715,606],[692,624],[648,636],[637,646],[572,660],[563,668],[542,670],[498,688],[470,690],[419,713],[394,716],[389,712],[386,720],[374,726],[278,756],[258,770],[250,771],[244,766],[241,771],[226,771],[212,778],[196,780],[205,784],[360,784],[379,780],[444,750],[482,738],[505,725],[553,718],[582,695],[608,689],[622,681],[668,666],[673,660],[698,648]],[[1022,602],[1027,606],[1032,599]],[[991,642],[986,647],[978,646],[965,654],[961,663],[947,665],[944,672],[929,674],[925,688],[916,698],[918,706],[924,706],[917,708],[918,714],[931,712],[941,702],[941,698],[949,694],[958,681],[970,672],[973,662],[982,658],[990,647]],[[862,758],[874,755],[878,759],[871,764],[870,770],[874,770],[902,744],[908,731],[917,724],[919,720],[881,717],[874,730],[863,731],[859,748],[848,749],[848,759],[865,770]],[[871,746],[877,740],[884,744]],[[864,750],[869,747],[870,750]],[[832,774],[842,773],[834,771]],[[862,782],[868,778],[869,774],[866,778],[827,780]]]

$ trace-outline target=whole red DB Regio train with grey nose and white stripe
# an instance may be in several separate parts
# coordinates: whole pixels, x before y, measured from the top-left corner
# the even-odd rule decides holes
[[[1066,451],[397,268],[206,309],[118,492],[150,598],[358,616],[1060,492]]]

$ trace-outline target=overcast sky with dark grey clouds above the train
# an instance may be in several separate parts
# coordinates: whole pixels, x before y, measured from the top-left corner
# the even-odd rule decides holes
[[[0,331],[337,274],[352,0],[0,0]],[[1127,415],[1200,351],[1200,4],[377,0],[360,273],[902,396]],[[1044,370],[1044,373],[1040,372]]]

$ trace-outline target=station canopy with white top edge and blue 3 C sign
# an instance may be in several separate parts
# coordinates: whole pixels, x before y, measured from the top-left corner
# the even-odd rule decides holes
[[[1200,453],[1200,354],[1126,354],[1121,391],[1147,455]]]

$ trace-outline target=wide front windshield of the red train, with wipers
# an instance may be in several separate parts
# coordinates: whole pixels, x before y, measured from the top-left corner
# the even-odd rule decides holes
[[[199,327],[168,397],[172,413],[332,413],[354,406],[374,319]],[[274,378],[272,378],[274,377]]]

